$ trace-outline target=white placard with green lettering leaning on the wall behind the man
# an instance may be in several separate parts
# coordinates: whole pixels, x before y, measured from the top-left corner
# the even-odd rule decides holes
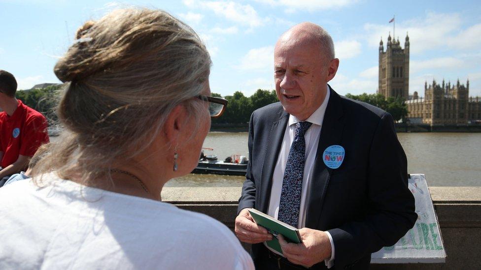
[[[373,253],[371,263],[444,263],[446,260],[438,216],[424,175],[412,174],[408,187],[416,203],[416,224],[395,245]]]

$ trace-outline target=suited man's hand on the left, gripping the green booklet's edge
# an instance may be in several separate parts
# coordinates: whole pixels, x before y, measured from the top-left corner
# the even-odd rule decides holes
[[[247,209],[242,209],[236,217],[235,232],[239,240],[249,244],[272,240],[272,234],[257,225]]]

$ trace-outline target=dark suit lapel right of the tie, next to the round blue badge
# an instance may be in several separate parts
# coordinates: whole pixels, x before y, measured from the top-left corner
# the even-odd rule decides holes
[[[323,152],[332,145],[339,145],[344,130],[344,109],[341,97],[331,89],[326,113],[322,122],[319,144],[314,161],[312,179],[310,180],[307,194],[306,227],[316,228],[322,210],[324,196],[326,194],[332,169],[323,162]]]

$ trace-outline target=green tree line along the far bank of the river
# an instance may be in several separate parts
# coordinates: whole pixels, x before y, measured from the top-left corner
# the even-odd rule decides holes
[[[17,99],[22,100],[27,106],[42,113],[49,123],[57,121],[55,108],[58,104],[58,92],[62,86],[49,86],[43,89],[17,91]],[[245,96],[242,92],[236,91],[232,95],[221,96],[212,93],[212,96],[223,97],[229,101],[224,114],[212,119],[212,123],[247,123],[253,111],[277,102],[275,90],[258,89],[251,96]],[[401,120],[408,115],[407,105],[402,98],[384,98],[381,94],[360,95],[346,94],[346,97],[360,100],[390,113],[394,120]]]

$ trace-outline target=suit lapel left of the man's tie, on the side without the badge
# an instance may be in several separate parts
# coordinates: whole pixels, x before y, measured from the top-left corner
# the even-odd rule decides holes
[[[269,206],[274,167],[284,138],[287,120],[289,119],[289,115],[283,108],[280,109],[278,116],[278,120],[272,123],[269,131],[269,139],[266,145],[266,156],[264,157],[264,165],[262,166],[261,173],[261,193],[258,197],[259,202],[256,202],[256,205],[259,206],[258,210],[264,213],[267,213],[267,208]]]

